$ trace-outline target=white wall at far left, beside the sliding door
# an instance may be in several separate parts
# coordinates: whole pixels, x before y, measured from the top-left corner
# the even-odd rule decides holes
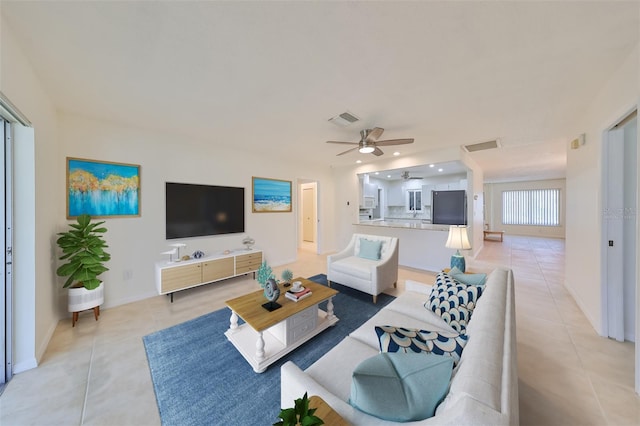
[[[0,90],[33,123],[34,140],[16,141],[14,155],[14,372],[36,365],[58,321],[52,247],[62,212],[56,183],[64,170],[56,113],[36,72],[0,18]]]

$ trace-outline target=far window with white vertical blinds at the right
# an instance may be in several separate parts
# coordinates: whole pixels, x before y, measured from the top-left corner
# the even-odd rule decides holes
[[[502,224],[560,226],[560,190],[504,191]]]

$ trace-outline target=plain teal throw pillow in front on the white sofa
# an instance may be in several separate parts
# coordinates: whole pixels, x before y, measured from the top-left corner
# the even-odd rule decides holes
[[[451,380],[450,358],[381,353],[353,371],[349,403],[378,418],[407,422],[432,417]]]

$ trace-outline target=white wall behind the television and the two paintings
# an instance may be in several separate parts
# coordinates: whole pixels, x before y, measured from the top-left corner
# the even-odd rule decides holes
[[[123,125],[69,113],[60,114],[61,152],[65,157],[80,157],[141,166],[141,216],[106,219],[105,236],[111,253],[109,271],[103,274],[106,283],[105,307],[120,305],[156,294],[154,263],[172,242],[184,242],[182,253],[195,250],[206,253],[242,248],[242,239],[250,235],[256,248],[264,250],[270,265],[293,262],[297,258],[296,229],[298,226],[299,191],[292,188],[293,212],[252,213],[252,176],[290,180],[299,178],[318,181],[321,205],[332,205],[332,179],[328,168],[319,168],[300,161],[284,163],[264,155],[225,150],[211,141],[190,141],[184,137],[144,131]],[[176,142],[180,141],[180,142]],[[182,240],[165,239],[165,182],[239,186],[245,188],[244,234],[229,234]],[[57,194],[65,198],[64,182],[59,182]],[[320,211],[321,220],[326,212]],[[59,217],[64,229],[64,216]],[[323,240],[331,242],[331,228],[325,229]],[[294,271],[295,273],[295,271]],[[66,293],[59,292],[60,311],[66,303]]]

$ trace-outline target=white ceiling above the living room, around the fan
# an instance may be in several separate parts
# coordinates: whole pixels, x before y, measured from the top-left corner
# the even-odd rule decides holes
[[[630,2],[2,1],[62,110],[326,166],[499,138],[488,181],[564,176],[577,122],[637,48]],[[360,121],[328,119],[349,111]],[[385,156],[327,140],[383,127]],[[313,153],[311,155],[311,153]]]

